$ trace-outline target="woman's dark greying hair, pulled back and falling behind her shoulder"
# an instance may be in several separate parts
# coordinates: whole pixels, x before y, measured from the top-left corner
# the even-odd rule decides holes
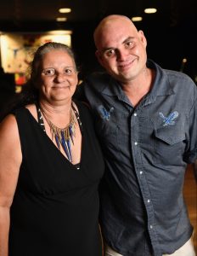
[[[19,99],[17,100],[18,103],[16,104],[16,107],[22,107],[38,101],[39,90],[37,83],[40,81],[43,55],[57,49],[63,50],[70,55],[71,59],[73,60],[73,64],[76,66],[75,55],[68,45],[56,42],[42,44],[37,48],[35,54],[33,55],[33,60],[31,61],[28,69],[29,79],[27,80],[26,84],[23,85],[23,90],[18,97]]]

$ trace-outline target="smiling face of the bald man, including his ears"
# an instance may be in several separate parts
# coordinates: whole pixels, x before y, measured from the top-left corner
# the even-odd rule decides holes
[[[147,61],[146,39],[130,20],[113,20],[100,30],[98,61],[108,73],[123,84],[138,78]]]

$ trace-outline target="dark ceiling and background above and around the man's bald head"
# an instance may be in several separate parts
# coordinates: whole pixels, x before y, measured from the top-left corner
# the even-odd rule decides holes
[[[70,14],[59,14],[60,7],[71,8]],[[156,7],[157,13],[144,14],[145,7]],[[76,52],[82,77],[99,69],[94,56],[93,30],[106,15],[143,15],[136,22],[148,40],[148,56],[160,66],[180,71],[196,82],[197,77],[197,1],[196,0],[6,0],[0,3],[0,31],[45,32],[71,29],[72,48]],[[65,22],[56,17],[67,17]],[[183,58],[187,62],[182,66]]]

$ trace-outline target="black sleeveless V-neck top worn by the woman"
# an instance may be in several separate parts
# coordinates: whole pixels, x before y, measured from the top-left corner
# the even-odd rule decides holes
[[[82,120],[80,170],[26,108],[15,111],[23,160],[10,210],[9,256],[101,256],[98,183],[104,160],[89,110]]]

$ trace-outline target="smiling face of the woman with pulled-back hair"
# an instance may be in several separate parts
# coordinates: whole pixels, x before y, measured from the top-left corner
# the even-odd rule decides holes
[[[63,49],[53,49],[43,55],[41,65],[41,98],[61,103],[70,100],[76,90],[76,65]]]

